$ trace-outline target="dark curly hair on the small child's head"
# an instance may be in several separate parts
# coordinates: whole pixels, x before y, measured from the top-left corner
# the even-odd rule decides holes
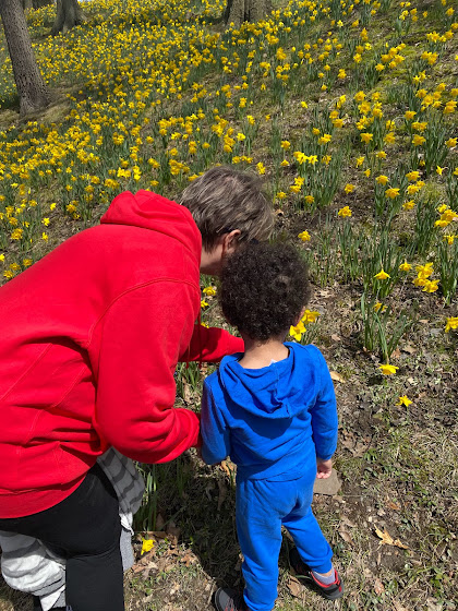
[[[288,244],[248,244],[222,268],[222,313],[252,339],[266,342],[286,334],[309,298],[306,266]]]

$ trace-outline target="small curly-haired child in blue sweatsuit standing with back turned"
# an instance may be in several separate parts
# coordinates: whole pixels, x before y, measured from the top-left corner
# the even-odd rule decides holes
[[[230,455],[237,465],[245,589],[219,588],[218,611],[273,609],[281,525],[296,543],[290,563],[298,577],[328,599],[343,592],[311,508],[315,477],[329,477],[336,450],[334,385],[315,346],[285,343],[308,298],[304,264],[286,244],[250,244],[222,271],[222,312],[245,351],[224,358],[205,380],[202,455],[207,464]]]

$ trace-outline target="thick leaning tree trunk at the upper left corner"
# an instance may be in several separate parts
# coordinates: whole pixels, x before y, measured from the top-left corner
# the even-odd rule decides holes
[[[51,96],[32,49],[21,0],[0,0],[0,16],[20,98],[20,112],[41,110],[48,106]]]

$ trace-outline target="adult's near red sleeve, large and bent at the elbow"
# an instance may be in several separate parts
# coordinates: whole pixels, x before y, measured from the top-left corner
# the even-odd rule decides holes
[[[172,460],[197,442],[198,417],[173,407],[173,373],[192,335],[195,290],[174,281],[135,288],[100,322],[94,426],[134,460]]]

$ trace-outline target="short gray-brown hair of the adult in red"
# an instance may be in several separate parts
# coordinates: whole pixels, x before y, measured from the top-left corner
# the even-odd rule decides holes
[[[191,212],[208,251],[220,236],[234,229],[240,229],[239,243],[265,241],[274,229],[274,213],[261,180],[229,166],[196,178],[178,203]]]

